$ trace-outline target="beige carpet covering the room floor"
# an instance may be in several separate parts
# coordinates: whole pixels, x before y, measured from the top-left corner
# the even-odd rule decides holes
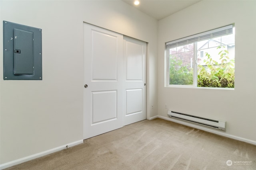
[[[231,166],[227,165],[228,160],[232,161]],[[256,146],[154,119],[127,125],[6,170],[225,169],[256,170]]]

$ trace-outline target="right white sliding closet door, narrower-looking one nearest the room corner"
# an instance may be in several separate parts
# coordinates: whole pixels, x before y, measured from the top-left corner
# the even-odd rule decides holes
[[[146,119],[146,51],[146,42],[124,36],[123,125]]]

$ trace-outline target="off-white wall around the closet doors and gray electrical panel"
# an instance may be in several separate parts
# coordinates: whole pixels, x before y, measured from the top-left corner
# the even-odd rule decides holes
[[[42,29],[42,81],[3,80],[0,164],[83,139],[83,21],[148,42],[147,118],[157,115],[158,22],[119,0],[1,0],[0,20]]]

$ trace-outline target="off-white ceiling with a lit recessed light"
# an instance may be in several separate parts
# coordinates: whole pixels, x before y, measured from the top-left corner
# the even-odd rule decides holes
[[[152,16],[156,20],[161,20],[188,6],[196,4],[200,0],[139,0],[140,4],[138,6],[134,5],[135,0],[122,1]]]

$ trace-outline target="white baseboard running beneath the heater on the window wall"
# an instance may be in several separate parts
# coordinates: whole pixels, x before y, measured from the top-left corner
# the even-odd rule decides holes
[[[173,121],[173,122],[176,122],[176,123],[180,123],[182,125],[194,127],[196,129],[200,129],[200,130],[203,130],[203,131],[207,131],[207,132],[210,132],[210,133],[214,133],[214,134],[217,134],[217,135],[221,135],[221,136],[224,136],[224,137],[228,137],[228,138],[231,138],[231,139],[236,139],[238,141],[243,141],[243,142],[246,142],[246,143],[256,145],[256,141],[252,141],[250,139],[245,139],[245,138],[242,138],[242,137],[237,137],[237,136],[234,136],[234,135],[230,135],[230,134],[224,133],[224,132],[219,131],[219,130],[210,129],[208,127],[200,126],[200,125],[197,125],[197,124],[189,123],[189,122],[178,120],[178,119],[171,119],[169,117],[164,117],[164,116],[158,116],[158,117],[161,118],[161,119],[165,119],[165,120],[168,120],[168,121]]]

